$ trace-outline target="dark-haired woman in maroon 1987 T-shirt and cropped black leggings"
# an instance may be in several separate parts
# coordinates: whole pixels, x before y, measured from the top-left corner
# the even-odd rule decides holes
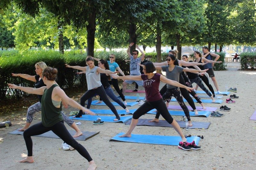
[[[158,73],[153,73],[155,71],[155,67],[152,62],[147,62],[143,65],[143,72],[144,74],[140,76],[121,76],[121,77],[113,77],[123,80],[143,80],[145,92],[146,92],[146,101],[142,106],[140,106],[132,115],[132,122],[129,127],[129,130],[120,137],[132,137],[132,130],[135,128],[135,126],[138,123],[138,119],[140,116],[146,114],[148,111],[156,108],[159,110],[161,115],[164,117],[164,119],[170,123],[173,128],[179,133],[182,141],[179,143],[179,148],[184,150],[190,150],[189,144],[187,142],[186,137],[183,135],[179,124],[172,118],[172,116],[169,114],[167,107],[165,106],[164,100],[159,93],[159,84],[160,81],[164,83],[168,83],[170,85],[175,85],[177,87],[183,87],[186,88],[188,91],[190,91],[193,88],[181,85],[180,83],[176,81],[172,81],[170,79],[165,78],[163,75],[160,75]]]

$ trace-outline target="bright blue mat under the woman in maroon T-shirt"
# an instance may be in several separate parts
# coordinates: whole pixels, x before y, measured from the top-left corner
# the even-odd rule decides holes
[[[164,145],[174,145],[178,146],[180,141],[182,141],[180,136],[160,136],[160,135],[138,135],[132,134],[132,137],[119,137],[123,135],[124,132],[118,133],[116,136],[112,137],[109,141],[121,141],[121,142],[132,142],[132,143],[143,143],[143,144],[164,144]],[[187,137],[187,141],[190,143],[195,141],[198,145],[200,137],[192,136]]]

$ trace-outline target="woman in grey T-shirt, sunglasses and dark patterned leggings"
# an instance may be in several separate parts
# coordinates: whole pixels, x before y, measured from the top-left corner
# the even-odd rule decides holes
[[[155,66],[156,69],[158,70],[163,70],[166,72],[166,78],[173,80],[173,81],[177,81],[179,82],[180,79],[180,73],[182,71],[188,71],[188,72],[205,72],[206,70],[196,70],[196,69],[188,69],[188,68],[182,68],[176,64],[174,64],[174,62],[176,62],[176,57],[172,54],[168,55],[167,57],[167,66]],[[187,86],[186,86],[187,87]],[[187,88],[185,88],[187,90]],[[180,89],[174,85],[168,85],[167,84],[167,89],[166,92],[162,95],[164,100],[168,100],[171,97],[175,97],[175,99],[178,101],[178,103],[180,104],[180,107],[183,109],[187,119],[188,119],[188,123],[189,126],[192,126],[192,122],[190,120],[190,115],[189,115],[189,111],[188,111],[188,107],[185,105],[182,96],[180,94]],[[151,120],[150,122],[158,122],[159,120],[159,116],[160,113],[157,112],[156,113],[156,117],[155,119]]]

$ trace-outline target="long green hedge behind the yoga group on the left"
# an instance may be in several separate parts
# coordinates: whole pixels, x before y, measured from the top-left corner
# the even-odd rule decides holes
[[[124,60],[129,59],[126,51],[95,51],[94,56],[96,58],[109,60],[109,55],[114,54],[116,56],[116,63],[124,71],[125,75],[129,75],[130,63]],[[162,54],[162,61],[165,61],[168,53]],[[0,99],[4,98],[21,98],[28,95],[17,89],[9,89],[7,83],[12,83],[21,86],[33,87],[34,82],[25,80],[20,77],[13,77],[12,73],[21,73],[28,75],[35,74],[35,63],[43,61],[48,66],[58,69],[57,83],[60,87],[70,88],[74,84],[86,87],[85,74],[77,75],[78,70],[66,68],[65,63],[69,65],[85,66],[86,55],[81,54],[80,50],[66,51],[64,54],[60,54],[59,51],[54,50],[28,50],[20,54],[17,50],[1,51],[0,52]],[[156,53],[147,53],[146,59],[156,62]],[[98,65],[95,62],[95,65]]]

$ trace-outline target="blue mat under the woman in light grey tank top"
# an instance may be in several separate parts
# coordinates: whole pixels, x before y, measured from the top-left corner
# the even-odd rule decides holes
[[[70,119],[76,119],[76,120],[83,120],[83,121],[96,121],[98,116],[97,115],[82,115],[82,117],[73,117],[70,116]],[[101,121],[104,122],[127,122],[128,120],[132,119],[132,116],[125,116],[120,117],[121,119],[119,121],[113,121],[116,116],[100,116]]]

